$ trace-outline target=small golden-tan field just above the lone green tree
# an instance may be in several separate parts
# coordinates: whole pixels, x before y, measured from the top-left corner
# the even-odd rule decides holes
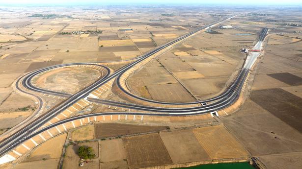
[[[87,125],[71,132],[72,141],[92,140],[94,138],[94,125]]]

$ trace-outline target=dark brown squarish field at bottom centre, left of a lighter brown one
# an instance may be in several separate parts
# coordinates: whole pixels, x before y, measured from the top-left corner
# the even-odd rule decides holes
[[[159,134],[123,138],[130,169],[171,164]]]

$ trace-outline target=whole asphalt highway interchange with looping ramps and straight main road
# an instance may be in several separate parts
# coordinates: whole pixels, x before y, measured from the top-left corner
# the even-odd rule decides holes
[[[240,14],[238,14],[238,15],[240,15]],[[22,92],[24,92],[28,95],[35,96],[35,95],[33,95],[31,93],[28,93],[28,92],[26,92],[26,91],[24,91],[24,90],[22,90],[18,87],[18,84],[20,83],[20,80],[22,79],[22,82],[21,82],[22,85],[24,87],[26,87],[28,90],[31,90],[31,91],[34,91],[34,92],[41,92],[41,93],[45,93],[45,94],[51,94],[51,95],[60,96],[60,97],[68,97],[68,98],[66,100],[64,100],[61,104],[59,104],[58,106],[56,106],[53,109],[51,109],[50,111],[48,111],[47,113],[43,114],[42,116],[39,116],[34,121],[31,121],[29,124],[27,124],[26,126],[21,128],[16,133],[12,134],[10,137],[4,139],[0,144],[0,156],[5,155],[7,152],[11,151],[16,146],[18,146],[21,143],[25,142],[27,139],[29,139],[29,138],[45,131],[45,130],[51,128],[51,127],[54,127],[56,125],[60,125],[61,123],[64,123],[64,122],[67,122],[67,121],[73,121],[73,120],[76,120],[76,119],[92,117],[92,116],[103,116],[103,115],[188,116],[188,115],[199,115],[199,114],[215,112],[215,111],[224,109],[226,107],[229,107],[230,105],[232,105],[234,102],[237,101],[237,99],[240,95],[242,86],[243,86],[243,84],[246,80],[247,74],[248,74],[248,72],[251,68],[250,66],[247,67],[246,65],[253,65],[256,58],[259,56],[259,53],[253,53],[252,54],[253,59],[249,59],[245,62],[245,65],[243,66],[243,68],[239,72],[238,76],[235,78],[234,82],[226,89],[226,91],[224,91],[218,97],[214,97],[214,98],[203,100],[203,101],[190,102],[190,103],[166,103],[166,102],[159,102],[159,101],[155,101],[155,100],[149,100],[149,99],[146,99],[146,98],[137,97],[137,96],[125,91],[120,86],[119,78],[121,77],[121,75],[124,72],[131,69],[132,67],[134,67],[135,65],[137,65],[138,63],[143,61],[144,59],[146,59],[146,58],[152,56],[153,54],[161,51],[162,49],[170,47],[173,44],[181,42],[185,38],[199,32],[201,30],[208,29],[211,26],[221,24],[222,22],[230,20],[233,17],[236,17],[238,15],[232,16],[230,18],[226,18],[222,21],[218,21],[218,22],[215,22],[213,24],[209,24],[209,25],[200,27],[200,28],[198,28],[198,29],[186,34],[186,35],[180,36],[180,37],[174,39],[173,41],[168,42],[165,45],[162,45],[158,48],[155,48],[155,49],[145,53],[144,55],[136,58],[134,62],[120,68],[116,72],[111,73],[109,68],[103,66],[103,69],[107,71],[107,73],[104,76],[99,78],[97,81],[92,83],[87,88],[83,89],[82,91],[80,91],[80,92],[78,92],[78,93],[76,93],[75,95],[72,95],[72,96],[69,95],[69,94],[58,93],[58,92],[54,92],[54,91],[48,91],[48,90],[45,90],[45,89],[37,88],[37,87],[35,87],[31,84],[31,79],[39,73],[42,73],[42,72],[45,72],[45,71],[48,71],[48,70],[51,70],[51,69],[55,69],[55,68],[60,68],[60,67],[64,67],[64,66],[71,66],[71,65],[83,65],[83,64],[93,65],[93,66],[100,66],[99,64],[97,64],[97,63],[100,63],[100,62],[72,63],[72,64],[55,65],[55,66],[50,66],[50,67],[47,67],[47,68],[39,69],[37,71],[33,71],[33,72],[30,72],[30,73],[26,74],[24,77],[20,78],[17,81],[16,88],[18,90],[20,90],[20,91],[22,91]],[[259,36],[259,42],[258,42],[260,45],[258,45],[257,48],[259,48],[259,49],[262,48],[262,41],[264,40],[264,38],[267,34],[267,31],[268,31],[268,29],[265,28],[261,32],[261,34]],[[142,105],[136,105],[136,104],[132,104],[132,103],[121,103],[121,102],[116,102],[116,101],[111,101],[111,100],[101,100],[101,99],[98,99],[98,98],[88,97],[89,94],[92,91],[94,91],[98,87],[106,84],[107,82],[109,82],[110,80],[112,80],[114,78],[116,78],[116,83],[117,83],[120,90],[122,90],[123,92],[125,92],[127,95],[129,95],[131,97],[136,97],[136,98],[138,98],[140,100],[143,100],[143,101],[155,102],[155,103],[161,103],[161,104],[177,104],[177,105],[200,103],[201,106],[187,107],[187,108],[163,108],[163,107],[142,106]],[[119,107],[131,108],[131,109],[136,109],[136,110],[140,110],[140,111],[148,111],[148,112],[154,112],[154,113],[110,112],[110,113],[88,114],[88,115],[82,115],[82,116],[77,116],[77,117],[72,117],[72,118],[68,118],[68,119],[65,119],[65,120],[61,120],[61,121],[58,121],[54,124],[48,125],[45,128],[42,128],[42,129],[38,130],[47,121],[53,119],[56,115],[58,115],[59,113],[61,113],[62,111],[64,111],[68,107],[70,107],[71,105],[75,104],[78,100],[80,100],[82,98],[87,98],[87,100],[89,100],[91,102],[97,102],[97,103],[108,104],[108,105],[115,105],[115,106],[119,106]],[[42,108],[42,100],[41,100],[40,97],[37,97],[37,99],[39,99],[39,101],[41,103],[39,108],[38,108],[38,111],[40,111],[41,108]],[[208,102],[211,102],[211,103],[207,104]]]

